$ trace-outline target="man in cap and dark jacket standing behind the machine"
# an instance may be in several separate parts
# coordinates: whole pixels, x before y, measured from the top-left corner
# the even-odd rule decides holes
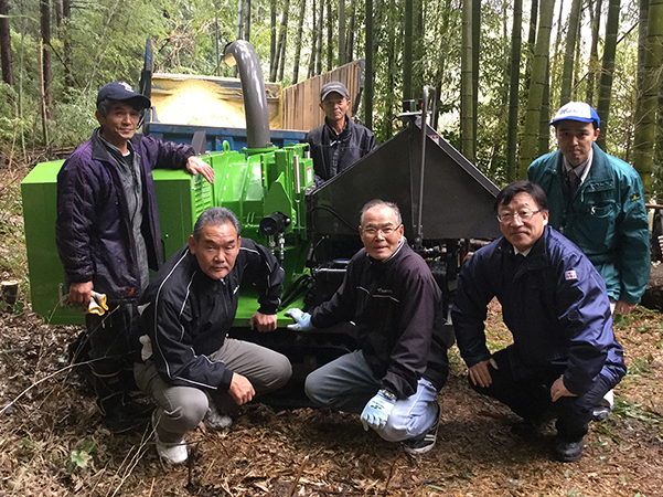
[[[347,117],[351,106],[345,85],[332,81],[320,91],[324,124],[307,134],[316,184],[321,186],[371,152],[377,144],[371,130]]]

